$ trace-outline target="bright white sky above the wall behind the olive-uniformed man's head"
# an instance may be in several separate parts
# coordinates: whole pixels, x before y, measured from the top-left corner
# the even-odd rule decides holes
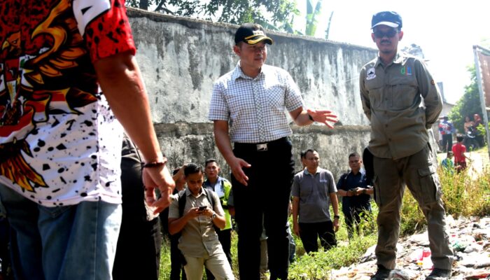
[[[297,0],[297,8],[306,15],[306,0]],[[428,69],[436,82],[443,83],[445,99],[451,104],[470,83],[467,66],[475,62],[472,46],[484,39],[490,43],[489,0],[323,0],[317,37],[324,38],[332,10],[330,40],[371,48],[376,48],[371,39],[372,15],[382,10],[399,13],[404,35],[398,49],[412,43],[421,47]],[[302,18],[297,17],[295,27],[304,26]]]

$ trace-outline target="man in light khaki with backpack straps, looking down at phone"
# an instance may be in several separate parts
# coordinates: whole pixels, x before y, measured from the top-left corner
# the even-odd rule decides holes
[[[169,208],[169,233],[181,232],[179,249],[186,265],[188,280],[202,279],[204,266],[218,280],[235,279],[214,227],[225,228],[225,213],[218,195],[204,190],[204,172],[200,165],[184,168],[187,188],[181,191]]]

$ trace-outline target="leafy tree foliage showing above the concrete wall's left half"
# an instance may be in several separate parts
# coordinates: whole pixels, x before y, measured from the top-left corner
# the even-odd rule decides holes
[[[214,22],[240,25],[256,22],[265,28],[283,25],[299,11],[294,0],[128,0],[127,6]]]

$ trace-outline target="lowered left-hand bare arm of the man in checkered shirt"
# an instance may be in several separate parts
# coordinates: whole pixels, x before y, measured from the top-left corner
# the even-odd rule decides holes
[[[247,186],[248,176],[245,175],[243,167],[251,167],[245,160],[235,157],[232,150],[232,144],[230,142],[230,135],[228,134],[228,121],[226,120],[214,120],[214,141],[218,150],[225,158],[226,162],[232,169],[232,174],[240,183]]]

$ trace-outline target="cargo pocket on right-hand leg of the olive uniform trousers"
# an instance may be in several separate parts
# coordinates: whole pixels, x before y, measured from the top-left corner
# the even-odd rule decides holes
[[[421,188],[420,199],[423,204],[436,202],[440,199],[441,188],[439,177],[437,177],[437,173],[435,172],[435,167],[433,165],[419,169],[419,182]]]

